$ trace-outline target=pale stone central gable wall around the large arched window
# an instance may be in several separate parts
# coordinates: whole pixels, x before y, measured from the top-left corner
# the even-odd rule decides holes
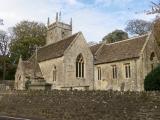
[[[82,33],[79,34],[64,54],[65,86],[73,89],[85,89],[85,86],[89,86],[89,89],[93,89],[93,55]],[[79,54],[84,59],[84,78],[76,78],[76,59]]]

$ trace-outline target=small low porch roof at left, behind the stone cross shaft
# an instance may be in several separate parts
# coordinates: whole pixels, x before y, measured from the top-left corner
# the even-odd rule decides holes
[[[31,61],[22,61],[22,66],[23,66],[23,71],[26,77],[33,77],[35,72],[36,77],[43,78],[43,75],[38,63],[36,63],[36,71],[34,71],[34,63]]]

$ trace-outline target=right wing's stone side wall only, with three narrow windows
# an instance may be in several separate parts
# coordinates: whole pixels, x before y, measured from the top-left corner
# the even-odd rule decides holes
[[[95,65],[95,89],[96,90],[121,90],[124,85],[124,90],[137,90],[137,62],[138,59],[123,60],[113,63]],[[131,78],[125,77],[125,64],[130,64]],[[112,66],[117,67],[117,78],[113,79]],[[98,68],[101,68],[101,80],[98,80]]]

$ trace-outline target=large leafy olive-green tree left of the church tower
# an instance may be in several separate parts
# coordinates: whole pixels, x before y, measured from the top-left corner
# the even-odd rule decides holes
[[[22,21],[12,29],[10,54],[17,63],[19,56],[28,59],[35,45],[43,46],[46,41],[46,27],[42,23]]]

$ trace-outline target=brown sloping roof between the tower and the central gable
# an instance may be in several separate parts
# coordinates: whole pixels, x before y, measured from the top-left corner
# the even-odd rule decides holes
[[[38,61],[45,61],[53,58],[62,57],[65,50],[69,47],[72,41],[77,37],[79,33],[76,33],[68,38],[65,38],[56,43],[44,46],[38,50]]]

